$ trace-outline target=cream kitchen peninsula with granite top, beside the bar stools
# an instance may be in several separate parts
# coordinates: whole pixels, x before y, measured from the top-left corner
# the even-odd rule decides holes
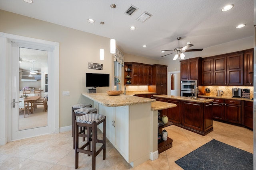
[[[132,167],[158,158],[158,109],[176,104],[123,94],[82,95],[93,101],[98,113],[106,115],[106,137]]]

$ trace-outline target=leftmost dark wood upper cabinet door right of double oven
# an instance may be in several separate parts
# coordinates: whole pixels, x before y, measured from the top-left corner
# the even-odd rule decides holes
[[[212,85],[213,83],[213,59],[202,60],[202,85]]]

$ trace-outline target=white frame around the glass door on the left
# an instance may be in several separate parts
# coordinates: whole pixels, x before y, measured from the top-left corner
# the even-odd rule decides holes
[[[52,99],[52,105],[48,107],[50,113],[55,113],[52,121],[50,133],[59,133],[59,43],[23,37],[0,32],[0,145],[5,145],[11,141],[11,109],[12,109],[12,43],[26,43],[40,45],[53,49],[53,56],[49,57],[48,71],[49,81],[52,85],[49,87],[49,98]],[[51,88],[51,89],[50,89]]]

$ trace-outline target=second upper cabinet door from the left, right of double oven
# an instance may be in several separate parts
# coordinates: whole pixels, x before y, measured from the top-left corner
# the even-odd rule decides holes
[[[217,57],[213,59],[213,84],[214,85],[226,85],[226,56]]]

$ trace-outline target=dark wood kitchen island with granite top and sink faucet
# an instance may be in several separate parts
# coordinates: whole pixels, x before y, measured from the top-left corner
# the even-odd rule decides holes
[[[154,95],[157,101],[176,104],[177,107],[164,110],[165,115],[174,125],[206,135],[213,131],[212,127],[212,99],[193,99],[190,97]]]

